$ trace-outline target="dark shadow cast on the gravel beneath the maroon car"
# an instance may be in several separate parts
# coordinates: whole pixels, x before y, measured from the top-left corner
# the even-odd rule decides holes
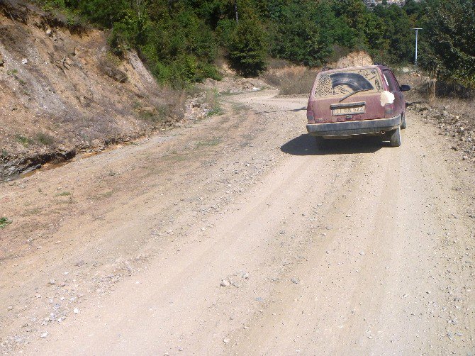
[[[318,148],[311,135],[300,135],[281,146],[281,151],[295,156],[342,155],[352,153],[373,153],[386,147],[378,136],[352,138],[348,140],[326,140],[325,147]]]

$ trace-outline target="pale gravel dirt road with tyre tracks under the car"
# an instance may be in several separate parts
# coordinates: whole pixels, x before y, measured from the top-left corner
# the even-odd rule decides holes
[[[275,94],[2,185],[2,352],[475,352],[473,167],[411,113],[318,150]]]

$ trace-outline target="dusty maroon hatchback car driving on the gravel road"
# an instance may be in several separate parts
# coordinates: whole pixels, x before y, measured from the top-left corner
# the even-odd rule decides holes
[[[326,138],[381,135],[401,145],[406,101],[393,72],[383,65],[348,67],[318,73],[308,99],[307,130],[317,143]]]

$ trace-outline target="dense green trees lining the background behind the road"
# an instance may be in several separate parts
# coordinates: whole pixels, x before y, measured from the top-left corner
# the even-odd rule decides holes
[[[473,0],[38,0],[111,29],[111,50],[134,48],[160,82],[186,85],[218,78],[218,55],[255,75],[267,57],[315,67],[350,50],[376,62],[413,60],[423,26],[421,65],[447,79],[475,81]]]

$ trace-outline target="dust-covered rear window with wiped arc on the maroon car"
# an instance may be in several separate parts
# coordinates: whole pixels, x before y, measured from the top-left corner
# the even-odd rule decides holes
[[[344,96],[354,91],[383,91],[381,77],[376,69],[357,69],[333,73],[322,73],[313,95]]]

